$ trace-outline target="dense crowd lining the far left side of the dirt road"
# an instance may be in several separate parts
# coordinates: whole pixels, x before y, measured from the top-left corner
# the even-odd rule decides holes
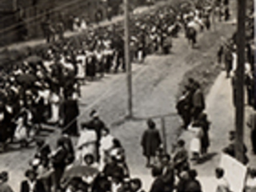
[[[143,62],[146,54],[167,51],[170,44],[164,42],[178,33],[169,6],[146,17],[136,16],[131,23],[132,61]],[[42,124],[62,126],[66,134],[77,135],[81,86],[105,73],[125,71],[124,60],[120,23],[89,29],[77,38],[61,38],[18,55],[17,61],[1,72],[1,150],[16,141],[28,146]]]

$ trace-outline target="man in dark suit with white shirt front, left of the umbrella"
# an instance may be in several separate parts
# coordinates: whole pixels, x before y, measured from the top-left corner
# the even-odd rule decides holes
[[[25,176],[27,180],[21,184],[21,192],[45,192],[45,188],[39,180],[34,170],[26,170]]]

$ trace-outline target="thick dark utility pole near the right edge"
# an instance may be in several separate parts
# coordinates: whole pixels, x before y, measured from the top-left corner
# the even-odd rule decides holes
[[[246,48],[246,0],[238,0],[238,30],[236,35],[238,68],[236,71],[237,98],[235,109],[236,141],[235,154],[238,161],[244,161],[243,126],[244,126],[244,73]]]

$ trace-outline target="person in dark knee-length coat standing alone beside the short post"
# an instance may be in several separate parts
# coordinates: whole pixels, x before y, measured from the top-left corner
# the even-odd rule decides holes
[[[146,167],[150,167],[150,158],[155,158],[155,152],[162,144],[159,131],[155,128],[155,123],[152,119],[147,120],[148,129],[142,135],[142,150],[146,156]]]

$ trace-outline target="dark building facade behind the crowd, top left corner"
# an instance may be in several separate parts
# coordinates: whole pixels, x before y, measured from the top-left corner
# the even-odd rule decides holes
[[[70,17],[89,22],[104,19],[107,14],[103,0],[1,0],[0,46],[11,42],[42,37],[42,22],[69,21]]]

